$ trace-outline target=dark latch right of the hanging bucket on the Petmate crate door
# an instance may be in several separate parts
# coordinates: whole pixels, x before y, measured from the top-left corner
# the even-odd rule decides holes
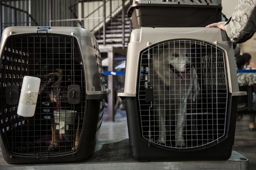
[[[81,90],[80,85],[68,86],[68,103],[79,104],[81,102]]]

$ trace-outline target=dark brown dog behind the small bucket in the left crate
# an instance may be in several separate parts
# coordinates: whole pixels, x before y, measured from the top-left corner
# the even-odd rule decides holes
[[[67,146],[73,146],[72,151],[75,151],[81,134],[79,124],[82,110],[72,107],[67,100],[68,85],[81,81],[81,78],[75,78],[76,69],[70,66],[75,61],[69,58],[65,62],[69,64],[61,63],[59,59],[41,59],[37,63],[36,76],[41,79],[39,95],[42,108],[47,108],[43,110],[51,116],[52,137],[48,147],[51,152]]]

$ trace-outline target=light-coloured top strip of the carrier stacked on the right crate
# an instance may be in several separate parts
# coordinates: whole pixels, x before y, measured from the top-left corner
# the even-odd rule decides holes
[[[134,0],[132,4],[180,4],[221,6],[221,0]]]

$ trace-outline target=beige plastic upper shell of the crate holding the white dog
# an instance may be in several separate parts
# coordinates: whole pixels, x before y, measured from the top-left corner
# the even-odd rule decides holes
[[[156,35],[156,36],[152,36]],[[135,97],[137,92],[137,79],[139,70],[139,59],[143,49],[147,49],[154,44],[162,41],[176,39],[195,39],[203,42],[209,42],[224,49],[225,60],[227,61],[228,86],[232,96],[244,95],[240,92],[237,84],[237,73],[235,69],[235,60],[232,43],[228,36],[218,28],[141,28],[134,29],[128,44],[126,59],[126,74],[124,92],[118,93],[121,97]]]

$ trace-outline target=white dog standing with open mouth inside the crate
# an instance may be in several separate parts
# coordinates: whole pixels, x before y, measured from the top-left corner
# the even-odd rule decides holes
[[[148,84],[154,88],[155,126],[159,129],[155,142],[166,144],[167,136],[171,136],[170,132],[175,130],[178,147],[186,145],[183,129],[187,104],[195,102],[200,94],[196,70],[190,61],[190,51],[185,46],[189,45],[180,43],[179,49],[162,46],[164,49],[153,50]]]

